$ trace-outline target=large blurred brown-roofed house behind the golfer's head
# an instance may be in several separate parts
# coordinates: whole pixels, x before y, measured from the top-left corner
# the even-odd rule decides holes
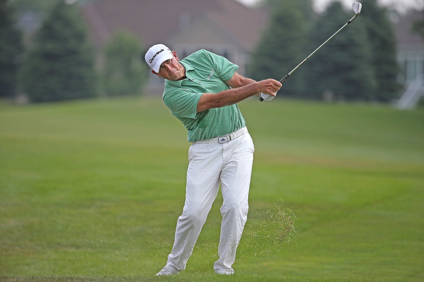
[[[86,0],[81,9],[99,52],[115,31],[126,30],[146,50],[163,43],[180,59],[200,49],[222,55],[241,75],[268,22],[265,10],[236,0]],[[149,79],[148,92],[162,93],[163,79]]]

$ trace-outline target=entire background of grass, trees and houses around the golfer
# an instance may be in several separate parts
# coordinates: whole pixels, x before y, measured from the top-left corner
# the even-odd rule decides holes
[[[204,48],[279,80],[352,2],[0,0],[0,281],[150,281],[191,144],[145,51]],[[239,104],[256,149],[226,281],[424,281],[424,1],[362,4],[273,102]],[[222,201],[174,281],[217,281]],[[293,242],[249,237],[282,202]]]

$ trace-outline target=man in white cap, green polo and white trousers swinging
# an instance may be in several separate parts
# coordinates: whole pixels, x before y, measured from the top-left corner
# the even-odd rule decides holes
[[[180,60],[163,44],[151,47],[145,60],[152,73],[165,78],[163,101],[187,129],[186,198],[175,241],[164,268],[156,275],[178,274],[192,254],[219,185],[223,196],[218,274],[233,274],[237,245],[248,212],[254,145],[237,102],[254,95],[270,101],[282,86],[239,75],[226,58],[199,50]]]

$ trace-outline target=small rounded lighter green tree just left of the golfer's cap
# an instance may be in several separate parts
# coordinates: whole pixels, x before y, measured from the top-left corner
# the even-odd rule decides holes
[[[115,33],[106,46],[103,87],[107,96],[139,94],[147,80],[142,47],[131,33]]]

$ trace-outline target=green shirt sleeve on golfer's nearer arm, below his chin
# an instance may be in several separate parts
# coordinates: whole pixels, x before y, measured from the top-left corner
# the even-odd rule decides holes
[[[197,104],[203,93],[192,93],[182,89],[169,91],[163,101],[177,118],[197,119]]]

